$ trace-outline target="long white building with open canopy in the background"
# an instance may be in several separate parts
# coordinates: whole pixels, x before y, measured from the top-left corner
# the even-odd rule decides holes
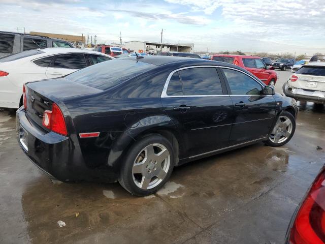
[[[193,52],[193,43],[160,43],[160,42],[125,42],[125,48],[136,52]]]

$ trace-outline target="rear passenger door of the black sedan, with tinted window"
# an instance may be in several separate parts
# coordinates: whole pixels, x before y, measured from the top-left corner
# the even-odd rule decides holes
[[[225,93],[216,67],[173,71],[161,103],[184,138],[187,155],[205,154],[228,143],[233,102]]]

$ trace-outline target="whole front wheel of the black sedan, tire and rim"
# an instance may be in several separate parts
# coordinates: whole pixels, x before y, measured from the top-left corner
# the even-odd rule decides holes
[[[296,130],[296,120],[294,116],[283,111],[268,138],[264,143],[268,146],[282,146],[287,143],[294,135]]]

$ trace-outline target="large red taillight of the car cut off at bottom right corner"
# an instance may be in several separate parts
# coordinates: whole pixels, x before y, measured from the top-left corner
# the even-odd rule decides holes
[[[290,231],[290,244],[325,243],[325,172],[317,176]]]

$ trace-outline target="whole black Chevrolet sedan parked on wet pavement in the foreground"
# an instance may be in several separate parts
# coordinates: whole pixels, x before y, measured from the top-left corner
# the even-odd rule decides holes
[[[104,181],[144,196],[174,166],[294,135],[296,101],[231,64],[197,58],[116,59],[26,83],[17,110],[28,158],[62,181]]]

